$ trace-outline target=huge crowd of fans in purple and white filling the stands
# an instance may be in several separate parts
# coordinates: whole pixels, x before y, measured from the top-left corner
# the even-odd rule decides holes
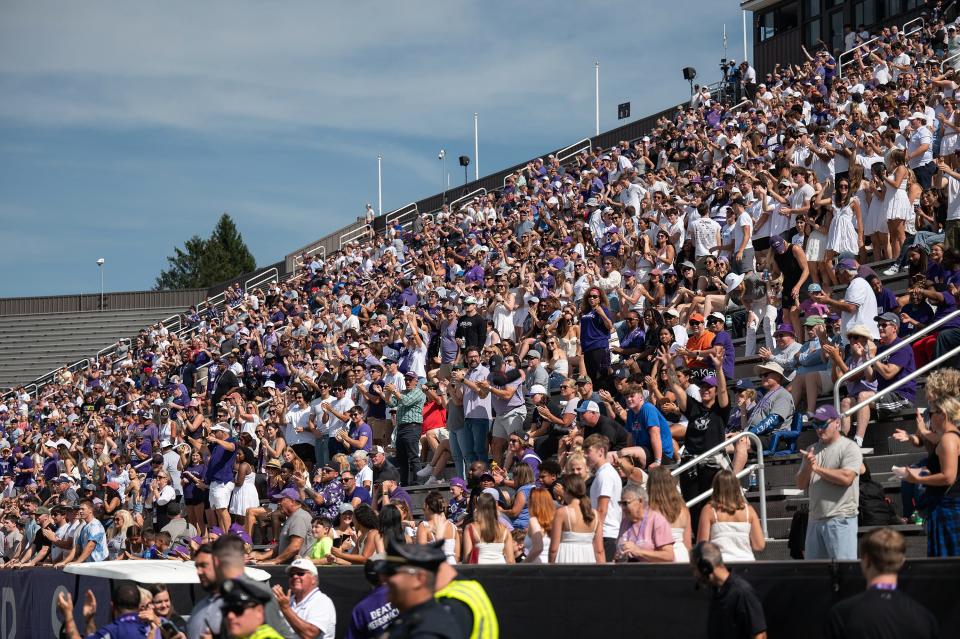
[[[855,557],[871,417],[912,409],[900,382],[960,345],[958,317],[897,348],[957,310],[960,81],[941,59],[960,40],[942,20],[879,35],[842,75],[826,50],[748,65],[736,110],[698,94],[648,137],[536,159],[9,396],[4,568],[189,559],[221,536],[258,564],[364,564],[391,540],[442,540],[450,562],[683,562],[697,540],[751,560],[748,440],[668,469],[805,427],[810,554]],[[895,390],[852,419],[818,408],[886,350],[843,406]],[[958,389],[931,375],[927,418],[896,435],[929,452],[899,476],[931,555],[960,553]],[[438,489],[422,508],[416,484]]]

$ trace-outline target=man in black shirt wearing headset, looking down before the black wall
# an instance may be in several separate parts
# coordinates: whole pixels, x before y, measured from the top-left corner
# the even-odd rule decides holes
[[[766,639],[767,620],[760,598],[745,579],[730,572],[720,547],[702,541],[690,552],[695,588],[711,590],[707,615],[709,639]]]

